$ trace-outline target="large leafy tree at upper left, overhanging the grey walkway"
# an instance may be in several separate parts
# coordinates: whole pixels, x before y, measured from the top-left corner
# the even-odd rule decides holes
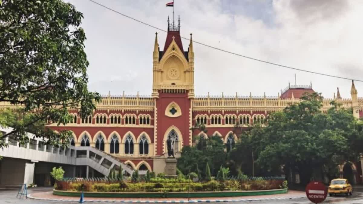
[[[0,111],[0,126],[13,128],[0,135],[0,147],[9,136],[26,143],[25,132],[66,146],[71,133],[46,125],[68,123],[70,109],[81,117],[95,109],[100,96],[87,89],[82,18],[62,0],[0,0],[0,103],[12,105]]]

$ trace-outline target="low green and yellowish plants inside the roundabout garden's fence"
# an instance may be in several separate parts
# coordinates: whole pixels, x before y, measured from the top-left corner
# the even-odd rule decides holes
[[[285,188],[287,188],[286,181],[281,178],[249,178],[205,182],[193,182],[184,178],[154,178],[147,182],[130,182],[117,179],[66,179],[57,181],[54,185],[55,190],[69,192],[221,192]]]

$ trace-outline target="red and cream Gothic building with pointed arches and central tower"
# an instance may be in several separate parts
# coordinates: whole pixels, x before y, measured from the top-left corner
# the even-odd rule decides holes
[[[238,140],[234,126],[248,127],[269,118],[274,111],[283,110],[300,101],[303,93],[312,93],[311,85],[289,85],[275,97],[210,96],[196,97],[194,91],[194,50],[192,35],[188,46],[183,46],[180,23],[168,23],[167,37],[162,49],[156,33],[152,52],[152,89],[149,97],[106,95],[97,103],[93,115],[80,118],[77,110],[70,110],[73,120],[67,125],[51,125],[54,130],[70,130],[72,145],[92,146],[112,155],[129,167],[138,170],[165,172],[167,142],[172,144],[175,156],[185,146],[191,146],[193,137],[203,132],[191,130],[203,123],[210,135],[218,135],[226,144],[226,151]],[[150,50],[151,51],[151,50]],[[354,83],[351,98],[339,94],[323,100],[322,111],[327,111],[333,100],[342,107],[352,108],[356,118],[363,116],[363,98],[358,98]],[[209,136],[210,136],[209,135]],[[169,140],[169,141],[168,141]],[[360,163],[352,163],[357,183],[362,180]],[[343,172],[343,166],[340,171]]]

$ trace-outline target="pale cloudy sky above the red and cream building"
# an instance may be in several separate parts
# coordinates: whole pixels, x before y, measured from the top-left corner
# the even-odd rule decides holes
[[[87,0],[67,0],[84,15],[89,88],[101,94],[151,94],[155,28]],[[170,0],[95,0],[167,29]],[[363,80],[362,0],[175,0],[182,36],[286,66]],[[158,31],[163,49],[166,33]],[[183,40],[184,50],[188,41]],[[194,44],[196,95],[277,96],[288,83],[350,98],[351,81],[248,60]],[[363,82],[355,82],[358,95]]]

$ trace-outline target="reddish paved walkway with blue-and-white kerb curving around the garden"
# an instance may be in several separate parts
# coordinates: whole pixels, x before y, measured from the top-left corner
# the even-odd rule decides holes
[[[105,198],[85,197],[86,202],[121,202],[121,203],[199,203],[199,202],[232,202],[232,201],[258,201],[258,200],[282,200],[298,199],[306,197],[303,191],[289,191],[284,194],[241,196],[241,197],[203,197],[203,198]],[[28,195],[30,199],[53,201],[79,201],[79,197],[53,195],[53,191],[36,192]]]

